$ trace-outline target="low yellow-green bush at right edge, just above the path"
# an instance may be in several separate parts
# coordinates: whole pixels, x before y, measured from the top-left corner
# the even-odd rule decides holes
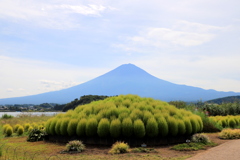
[[[219,133],[221,139],[240,139],[240,129],[223,129]]]

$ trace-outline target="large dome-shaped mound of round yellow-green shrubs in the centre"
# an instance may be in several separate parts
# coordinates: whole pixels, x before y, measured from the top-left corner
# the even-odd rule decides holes
[[[143,138],[191,135],[203,129],[203,122],[167,102],[120,95],[58,114],[45,127],[49,135]]]

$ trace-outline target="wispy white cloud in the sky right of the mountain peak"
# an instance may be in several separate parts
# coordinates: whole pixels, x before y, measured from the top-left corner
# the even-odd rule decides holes
[[[126,37],[126,42],[114,47],[126,51],[151,52],[156,49],[179,49],[200,46],[214,40],[218,32],[228,27],[218,27],[188,21],[178,21],[172,27],[148,27],[138,35]]]

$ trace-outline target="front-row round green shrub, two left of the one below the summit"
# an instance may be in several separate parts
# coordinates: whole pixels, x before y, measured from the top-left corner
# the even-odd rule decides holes
[[[98,136],[99,137],[107,137],[109,135],[110,123],[107,118],[101,119],[98,124]]]

